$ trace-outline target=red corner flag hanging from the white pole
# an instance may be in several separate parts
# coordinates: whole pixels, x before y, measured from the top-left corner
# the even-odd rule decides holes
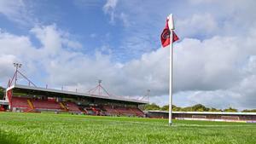
[[[162,42],[163,48],[165,48],[166,46],[168,46],[171,43],[170,36],[171,36],[172,30],[169,29],[168,21],[169,21],[169,19],[166,20],[166,27],[164,28],[164,30],[161,34],[161,42]],[[178,37],[177,37],[176,33],[172,31],[172,43],[177,40],[178,40]]]

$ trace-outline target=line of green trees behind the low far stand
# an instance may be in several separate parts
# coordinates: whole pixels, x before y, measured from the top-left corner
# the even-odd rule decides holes
[[[156,105],[155,103],[147,104],[145,107],[143,107],[144,110],[160,110],[160,111],[169,111],[169,105],[160,107]],[[172,111],[174,112],[238,112],[236,108],[228,107],[225,109],[218,109],[214,107],[205,107],[202,104],[196,104],[191,107],[177,107],[175,105],[172,105]],[[256,112],[256,109],[245,109],[241,112]]]

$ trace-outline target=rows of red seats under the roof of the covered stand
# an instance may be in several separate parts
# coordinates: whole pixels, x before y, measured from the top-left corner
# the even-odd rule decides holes
[[[108,116],[128,116],[128,117],[143,117],[144,113],[137,107],[117,107],[111,105],[105,106],[90,106],[81,107],[72,101],[60,101],[49,98],[42,100],[42,97],[27,98],[13,97],[13,106],[22,112],[39,111],[55,111],[55,112],[75,112],[89,115],[108,115]]]

